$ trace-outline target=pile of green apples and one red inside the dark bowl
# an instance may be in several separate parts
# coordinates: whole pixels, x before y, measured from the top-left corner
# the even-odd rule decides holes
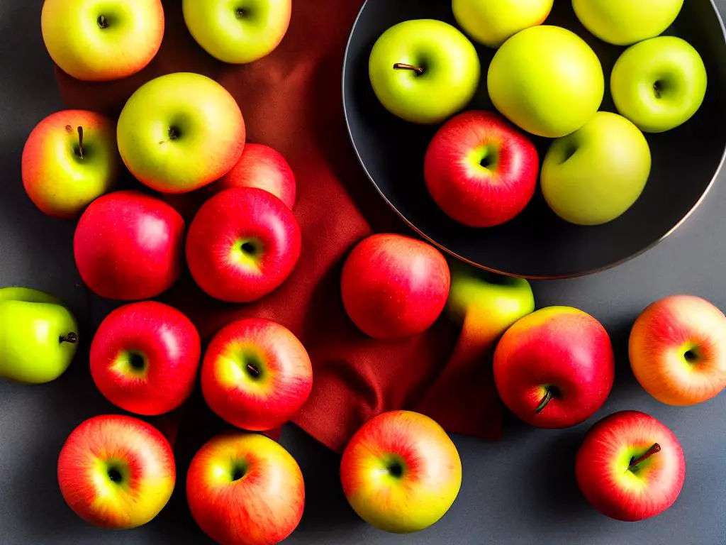
[[[701,107],[707,75],[687,41],[659,36],[683,0],[572,0],[597,38],[623,47],[610,74],[618,113],[598,111],[605,74],[574,32],[543,23],[553,0],[453,0],[459,28],[407,20],[388,28],[369,59],[370,82],[393,115],[441,124],[424,178],[433,201],[469,227],[509,222],[544,200],[575,225],[602,225],[630,209],[650,176],[644,132],[675,129]],[[496,110],[467,110],[483,68],[476,41],[497,49],[486,73]],[[539,168],[532,136],[552,139]]]

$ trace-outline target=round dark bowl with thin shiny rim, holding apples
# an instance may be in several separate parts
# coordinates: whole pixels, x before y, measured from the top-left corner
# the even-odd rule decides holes
[[[387,28],[404,20],[432,18],[457,25],[449,0],[367,0],[351,31],[343,65],[343,106],[356,153],[384,199],[420,235],[472,265],[524,278],[567,278],[613,267],[672,233],[708,193],[726,149],[726,41],[711,0],[685,0],[665,34],[680,36],[703,57],[709,76],[706,98],[693,118],[676,129],[646,134],[653,159],[643,194],[621,217],[595,227],[571,225],[550,211],[537,191],[529,206],[504,225],[475,229],[449,219],[423,180],[423,158],[440,125],[403,121],[383,108],[368,78],[368,57]],[[616,111],[609,74],[624,47],[592,36],[571,2],[556,0],[547,25],[568,28],[595,50],[605,71],[601,110]],[[486,68],[494,49],[477,45],[482,64],[479,91],[466,108],[493,110]],[[533,137],[540,159],[550,140]]]

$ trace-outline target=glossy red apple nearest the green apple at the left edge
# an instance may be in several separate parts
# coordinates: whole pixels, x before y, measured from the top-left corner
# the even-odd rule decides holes
[[[155,301],[123,305],[91,342],[91,376],[114,405],[155,416],[187,400],[197,379],[200,338],[187,316]]]

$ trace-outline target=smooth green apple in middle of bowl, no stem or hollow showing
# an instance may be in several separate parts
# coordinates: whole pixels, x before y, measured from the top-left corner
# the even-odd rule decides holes
[[[603,67],[575,33],[526,28],[505,41],[489,65],[494,107],[531,134],[558,138],[595,115],[605,94]]]

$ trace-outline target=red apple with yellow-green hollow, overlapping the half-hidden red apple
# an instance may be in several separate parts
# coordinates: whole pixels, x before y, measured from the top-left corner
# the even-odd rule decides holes
[[[221,301],[243,303],[285,282],[302,237],[285,203],[258,187],[233,187],[197,211],[187,233],[187,265],[197,285]]]

